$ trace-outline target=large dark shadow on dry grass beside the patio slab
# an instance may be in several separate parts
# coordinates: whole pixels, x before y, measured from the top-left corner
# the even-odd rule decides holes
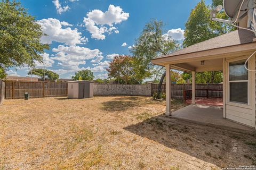
[[[256,147],[245,145],[246,140],[256,140],[256,137],[249,134],[210,128],[165,115],[146,118],[138,124],[127,126],[124,130],[219,167],[239,166],[243,161],[256,163],[256,155],[253,155]],[[242,150],[234,151],[237,146]],[[190,162],[191,160],[188,160],[188,163]]]

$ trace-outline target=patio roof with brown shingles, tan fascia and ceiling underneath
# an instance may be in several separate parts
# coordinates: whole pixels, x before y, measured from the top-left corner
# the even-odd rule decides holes
[[[181,71],[221,71],[225,57],[251,55],[256,50],[255,35],[248,30],[236,30],[202,43],[157,57],[151,62],[156,65],[171,65]],[[201,61],[205,61],[201,65]]]

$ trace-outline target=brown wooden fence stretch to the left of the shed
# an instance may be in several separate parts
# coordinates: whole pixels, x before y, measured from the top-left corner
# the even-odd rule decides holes
[[[67,96],[66,82],[5,81],[5,99],[22,99],[25,92],[29,98]]]

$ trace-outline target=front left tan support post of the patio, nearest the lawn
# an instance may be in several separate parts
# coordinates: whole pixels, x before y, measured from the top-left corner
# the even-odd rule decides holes
[[[166,115],[171,116],[171,65],[165,65],[166,70]]]

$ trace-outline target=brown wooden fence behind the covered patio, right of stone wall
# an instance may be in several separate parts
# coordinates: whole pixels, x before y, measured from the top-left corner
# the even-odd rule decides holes
[[[151,94],[157,92],[158,84],[151,85]],[[162,85],[165,92],[166,84]],[[171,84],[171,97],[189,99],[191,97],[192,84]],[[222,84],[196,84],[196,97],[222,98]]]

